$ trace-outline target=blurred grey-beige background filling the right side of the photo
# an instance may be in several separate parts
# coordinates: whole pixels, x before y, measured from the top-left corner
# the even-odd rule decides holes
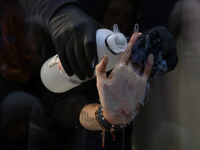
[[[178,1],[169,18],[177,36],[174,71],[150,78],[151,92],[134,120],[133,149],[198,150],[200,147],[200,1]]]

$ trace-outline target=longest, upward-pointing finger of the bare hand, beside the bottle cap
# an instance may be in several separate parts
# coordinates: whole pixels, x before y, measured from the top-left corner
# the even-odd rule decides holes
[[[137,39],[140,37],[141,33],[134,33],[128,42],[126,50],[121,54],[118,63],[129,63],[129,59],[131,56],[131,50],[133,47],[133,44],[137,41]]]

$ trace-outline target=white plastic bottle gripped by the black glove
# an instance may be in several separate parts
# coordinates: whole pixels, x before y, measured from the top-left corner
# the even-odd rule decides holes
[[[108,56],[108,65],[106,71],[110,71],[116,65],[120,53],[127,47],[127,39],[118,31],[118,26],[114,25],[113,31],[108,29],[99,29],[96,33],[98,61],[101,61],[104,55]],[[66,92],[81,83],[90,79],[80,80],[76,75],[69,77],[59,60],[58,55],[48,59],[42,66],[40,76],[47,89],[55,93]]]

